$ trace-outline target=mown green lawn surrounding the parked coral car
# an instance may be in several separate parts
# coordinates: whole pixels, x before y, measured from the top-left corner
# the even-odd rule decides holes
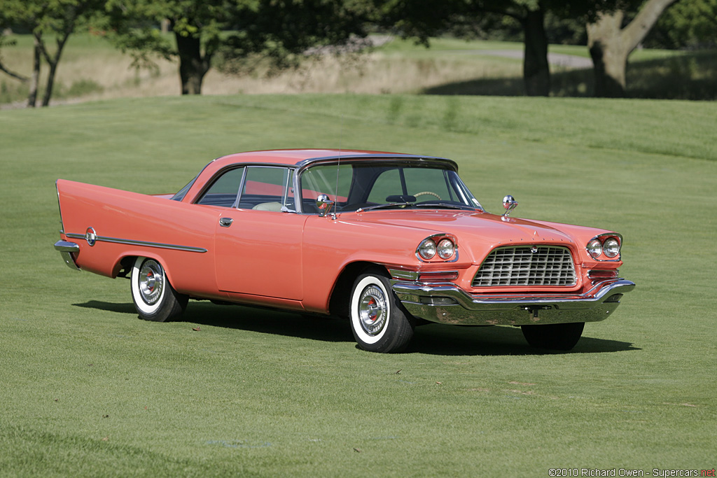
[[[168,97],[0,112],[0,475],[549,476],[712,469],[717,104],[440,96]],[[190,302],[138,320],[72,272],[54,181],[174,192],[262,148],[447,156],[488,210],[613,229],[637,288],[571,353],[514,328],[348,324]],[[250,272],[247,272],[250,273]],[[194,330],[198,329],[198,330]]]

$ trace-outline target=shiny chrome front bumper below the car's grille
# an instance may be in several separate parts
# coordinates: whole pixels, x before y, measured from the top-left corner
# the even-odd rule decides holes
[[[473,295],[449,282],[391,279],[391,285],[414,317],[454,325],[597,322],[607,319],[622,295],[635,288],[629,280],[610,279],[597,282],[584,294]]]

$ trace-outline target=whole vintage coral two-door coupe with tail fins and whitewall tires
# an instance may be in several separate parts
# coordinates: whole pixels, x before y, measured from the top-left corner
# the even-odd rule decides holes
[[[569,350],[635,284],[612,231],[486,212],[445,158],[272,150],[209,163],[147,196],[57,180],[72,269],[128,277],[139,316],[188,300],[346,317],[364,350],[396,352],[427,322],[513,325]]]

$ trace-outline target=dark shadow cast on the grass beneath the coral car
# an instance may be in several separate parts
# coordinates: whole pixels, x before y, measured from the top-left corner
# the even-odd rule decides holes
[[[118,312],[137,317],[134,305],[129,303],[90,300],[76,307]],[[257,333],[320,340],[324,342],[353,343],[353,335],[346,320],[314,317],[293,312],[281,312],[260,307],[241,305],[215,305],[210,302],[191,301],[179,322],[212,327],[250,330]],[[592,325],[569,353],[605,353],[640,350],[632,343],[619,340],[591,338]],[[526,343],[519,328],[514,327],[461,327],[429,324],[416,328],[406,353],[429,355],[551,355],[565,353],[532,348]]]

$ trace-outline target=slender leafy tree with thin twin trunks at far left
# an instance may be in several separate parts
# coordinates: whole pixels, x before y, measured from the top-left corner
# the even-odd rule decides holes
[[[54,87],[57,65],[67,39],[83,21],[102,9],[101,0],[0,0],[1,24],[22,27],[32,32],[33,62],[29,77],[27,106],[37,102],[42,60],[49,65],[47,84],[42,96],[42,106],[49,105]],[[45,43],[45,37],[54,36],[54,52]],[[4,70],[6,71],[6,70]],[[22,76],[22,75],[21,75]],[[20,80],[27,80],[22,77]]]

